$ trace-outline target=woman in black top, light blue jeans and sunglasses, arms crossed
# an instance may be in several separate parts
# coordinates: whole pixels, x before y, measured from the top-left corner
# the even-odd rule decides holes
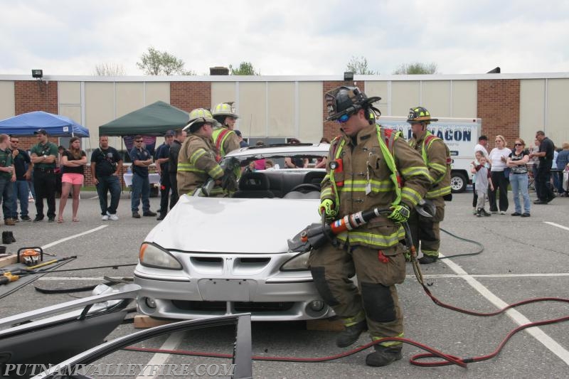
[[[511,191],[514,195],[514,205],[516,207],[515,212],[511,214],[513,216],[530,216],[528,161],[529,152],[526,150],[526,142],[518,138],[516,142],[514,142],[514,151],[511,152],[506,163],[510,168]],[[521,211],[520,195],[523,198],[523,213]]]

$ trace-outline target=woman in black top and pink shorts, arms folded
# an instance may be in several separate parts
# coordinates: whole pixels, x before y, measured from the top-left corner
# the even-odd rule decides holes
[[[79,209],[79,191],[83,186],[83,166],[87,164],[87,154],[81,150],[79,137],[69,140],[69,149],[63,151],[61,156],[63,164],[63,176],[61,178],[61,198],[59,201],[58,223],[63,223],[63,210],[67,204],[67,198],[71,186],[73,186],[73,221],[77,222],[77,210]]]

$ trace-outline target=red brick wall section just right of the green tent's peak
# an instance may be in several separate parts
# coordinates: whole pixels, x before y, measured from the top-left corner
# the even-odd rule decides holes
[[[191,112],[211,107],[211,82],[171,82],[170,104]]]

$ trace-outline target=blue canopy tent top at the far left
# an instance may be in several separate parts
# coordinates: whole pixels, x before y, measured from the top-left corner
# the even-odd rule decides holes
[[[4,134],[31,136],[38,129],[46,129],[51,137],[89,137],[89,129],[60,114],[28,112],[0,121]]]

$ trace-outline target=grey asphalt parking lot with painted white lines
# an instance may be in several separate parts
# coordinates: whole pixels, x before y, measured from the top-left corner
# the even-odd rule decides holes
[[[2,225],[12,230],[16,241],[10,252],[24,246],[41,246],[58,256],[77,255],[78,259],[62,268],[102,265],[127,265],[137,262],[140,242],[158,223],[155,218],[130,217],[129,198],[125,193],[119,204],[118,221],[100,220],[95,193],[81,196],[80,222],[72,223],[71,203],[65,210],[65,223],[18,223]],[[533,193],[532,200],[535,198]],[[569,198],[556,198],[549,205],[533,205],[530,218],[511,217],[513,201],[506,215],[476,218],[472,215],[472,193],[454,195],[447,203],[445,230],[484,244],[484,252],[467,257],[452,257],[422,266],[429,289],[445,303],[473,311],[496,311],[505,304],[536,297],[569,299]],[[151,198],[156,210],[159,198]],[[31,215],[35,209],[31,204]],[[305,225],[298,225],[301,230]],[[442,233],[441,252],[457,255],[474,252],[477,246]],[[103,276],[132,277],[132,267],[91,269],[51,273],[1,299],[0,316],[69,301],[80,294],[40,294],[43,288],[82,287],[103,282]],[[17,283],[17,282],[16,282]],[[10,285],[14,285],[10,284]],[[569,316],[569,304],[542,302],[521,306],[509,314],[477,317],[435,305],[413,276],[398,286],[405,314],[405,336],[458,357],[483,356],[493,352],[506,334],[528,321],[558,319]],[[132,324],[119,326],[110,336],[132,333]],[[233,329],[218,328],[187,333],[185,336],[156,338],[146,346],[192,351],[230,353]],[[334,345],[334,331],[309,331],[299,323],[254,323],[252,349],[259,356],[319,357],[341,353]],[[70,338],[62,336],[61,338]],[[358,344],[368,342],[365,333]],[[56,343],[56,342],[55,342]],[[368,351],[326,363],[287,363],[255,361],[255,378],[566,378],[569,372],[569,322],[531,328],[516,334],[499,356],[468,368],[445,366],[420,368],[410,365],[411,356],[420,349],[406,345],[403,360],[386,368],[365,365]],[[189,364],[230,363],[218,358],[160,356],[164,362]],[[145,364],[155,360],[151,353],[120,351],[109,358],[123,363]]]

